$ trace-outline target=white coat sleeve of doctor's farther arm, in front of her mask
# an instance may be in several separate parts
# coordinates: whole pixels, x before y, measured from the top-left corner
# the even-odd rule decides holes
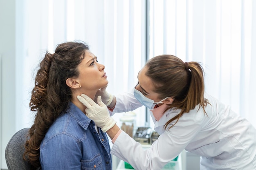
[[[116,95],[116,99],[117,103],[114,110],[112,112],[110,111],[110,115],[113,115],[114,113],[132,111],[142,106],[142,104],[134,97],[133,89],[124,94]]]

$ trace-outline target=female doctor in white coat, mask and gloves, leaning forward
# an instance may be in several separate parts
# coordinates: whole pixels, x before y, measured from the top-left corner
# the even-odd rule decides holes
[[[77,98],[87,107],[87,116],[112,139],[111,153],[136,170],[160,170],[183,149],[201,156],[201,170],[256,170],[256,129],[204,93],[199,63],[184,63],[173,55],[153,57],[139,71],[133,90],[115,97],[103,88],[97,104],[83,94]],[[141,104],[151,110],[160,134],[147,150],[110,117]]]

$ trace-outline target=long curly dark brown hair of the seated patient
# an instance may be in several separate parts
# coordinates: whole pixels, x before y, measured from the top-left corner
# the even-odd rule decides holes
[[[85,50],[89,47],[84,42],[65,42],[56,47],[54,54],[46,52],[40,62],[29,103],[36,115],[23,155],[31,163],[32,170],[40,167],[40,144],[47,130],[68,108],[72,91],[66,85],[66,79],[79,75],[77,66],[83,60]]]

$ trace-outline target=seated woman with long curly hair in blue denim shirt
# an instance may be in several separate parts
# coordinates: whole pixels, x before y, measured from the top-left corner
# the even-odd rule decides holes
[[[65,42],[45,54],[29,104],[36,112],[24,153],[31,169],[112,169],[106,133],[76,98],[85,93],[94,99],[108,85],[104,69],[84,42]]]

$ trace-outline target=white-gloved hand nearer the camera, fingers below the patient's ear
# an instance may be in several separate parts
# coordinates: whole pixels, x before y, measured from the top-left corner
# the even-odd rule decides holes
[[[87,107],[85,109],[86,116],[92,119],[103,132],[108,131],[117,123],[110,117],[107,106],[101,101],[101,96],[97,99],[98,104],[84,94],[78,95],[77,99]]]

